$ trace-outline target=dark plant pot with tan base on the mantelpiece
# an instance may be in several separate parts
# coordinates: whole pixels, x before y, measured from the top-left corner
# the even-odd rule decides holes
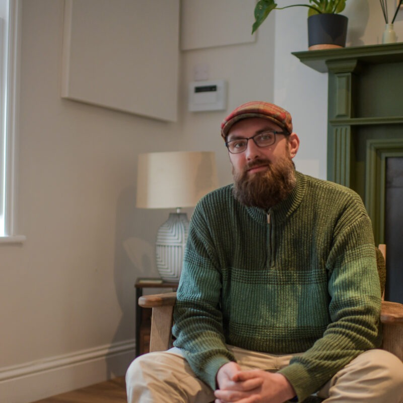
[[[345,47],[348,18],[341,14],[315,14],[308,17],[309,50]]]

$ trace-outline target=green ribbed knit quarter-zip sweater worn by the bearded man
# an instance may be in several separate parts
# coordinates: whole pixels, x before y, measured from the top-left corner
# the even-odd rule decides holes
[[[304,354],[280,372],[299,401],[380,345],[380,286],[370,219],[351,189],[296,172],[268,214],[233,185],[196,206],[174,310],[174,345],[213,389],[235,361],[225,344]]]

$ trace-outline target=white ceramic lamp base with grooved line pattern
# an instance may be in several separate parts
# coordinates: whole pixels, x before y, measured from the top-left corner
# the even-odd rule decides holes
[[[164,281],[179,281],[189,220],[186,213],[170,213],[157,232],[157,269]]]

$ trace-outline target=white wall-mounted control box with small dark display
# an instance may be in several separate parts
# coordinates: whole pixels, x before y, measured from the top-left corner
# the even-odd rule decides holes
[[[189,111],[200,112],[227,109],[225,80],[193,81],[189,84]]]

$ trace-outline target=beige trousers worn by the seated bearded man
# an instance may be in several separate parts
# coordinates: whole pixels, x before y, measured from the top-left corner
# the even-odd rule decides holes
[[[271,355],[227,346],[242,369],[277,371],[292,355]],[[126,373],[128,403],[209,403],[213,390],[195,377],[181,351],[149,353],[134,360]],[[383,350],[359,355],[318,392],[326,403],[403,403],[403,363]]]

